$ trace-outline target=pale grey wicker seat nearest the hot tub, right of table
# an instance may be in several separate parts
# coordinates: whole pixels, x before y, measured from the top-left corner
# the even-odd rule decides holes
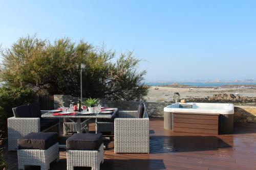
[[[150,153],[149,118],[145,105],[143,118],[136,117],[137,111],[119,111],[115,118],[115,153]]]

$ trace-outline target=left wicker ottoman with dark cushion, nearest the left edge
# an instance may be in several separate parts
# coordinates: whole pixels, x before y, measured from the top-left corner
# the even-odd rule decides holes
[[[51,162],[59,160],[58,133],[30,133],[17,139],[17,143],[18,169],[24,169],[25,165],[37,165],[47,170]]]

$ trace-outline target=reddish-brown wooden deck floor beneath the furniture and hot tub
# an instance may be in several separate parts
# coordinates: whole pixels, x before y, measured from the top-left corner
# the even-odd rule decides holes
[[[93,130],[94,124],[90,126]],[[256,124],[236,124],[231,135],[199,135],[164,130],[162,118],[151,118],[150,133],[150,154],[114,154],[114,141],[105,142],[100,169],[256,169]],[[6,157],[10,169],[17,169],[16,152]],[[52,163],[51,169],[66,166],[65,150],[60,150],[60,161]]]

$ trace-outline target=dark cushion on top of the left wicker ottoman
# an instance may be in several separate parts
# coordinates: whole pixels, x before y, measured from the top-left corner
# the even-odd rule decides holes
[[[39,149],[47,150],[58,141],[58,134],[55,132],[30,133],[17,140],[18,149]]]

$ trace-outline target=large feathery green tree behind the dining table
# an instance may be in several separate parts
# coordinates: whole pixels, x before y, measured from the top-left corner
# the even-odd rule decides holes
[[[96,48],[88,42],[74,43],[60,38],[51,43],[36,36],[19,38],[2,50],[0,79],[10,87],[23,87],[38,93],[78,96],[80,76],[77,65],[84,63],[83,97],[108,100],[144,100],[148,87],[142,81],[146,71],[138,71],[141,60],[132,52],[116,54],[104,45]]]

